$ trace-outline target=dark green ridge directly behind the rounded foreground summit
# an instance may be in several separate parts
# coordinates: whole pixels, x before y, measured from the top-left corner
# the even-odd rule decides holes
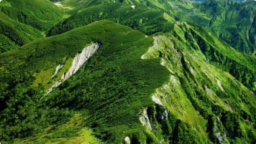
[[[127,25],[132,29],[140,30],[140,32],[149,35],[154,34],[155,32],[168,32],[170,24],[174,21],[174,19],[168,16],[168,14],[162,11],[150,9],[143,5],[134,6],[112,3],[97,5],[98,3],[96,3],[96,5],[87,7],[86,4],[91,4],[88,1],[86,4],[73,2],[74,1],[72,1],[72,3],[68,3],[73,5],[67,6],[76,7],[76,4],[79,4],[78,7],[81,6],[81,9],[79,9],[79,11],[71,9],[71,16],[57,24],[55,27],[52,27],[47,36],[61,34],[70,29],[91,24],[93,21],[99,21],[102,19],[109,19],[119,24]]]

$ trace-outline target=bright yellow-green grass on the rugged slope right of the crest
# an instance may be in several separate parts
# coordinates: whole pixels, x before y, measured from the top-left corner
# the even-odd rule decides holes
[[[254,115],[254,94],[227,72],[207,62],[204,54],[198,51],[198,45],[192,45],[186,43],[186,41],[182,42],[185,38],[179,37],[186,35],[182,32],[189,32],[189,29],[187,29],[186,24],[178,25],[175,30],[180,34],[179,36],[173,37],[172,34],[156,36],[155,42],[157,42],[157,46],[151,47],[147,54],[144,55],[144,58],[162,57],[161,63],[170,69],[170,82],[158,88],[154,95],[160,98],[165,109],[169,110],[171,115],[175,115],[183,123],[192,127],[189,130],[193,130],[193,132],[190,131],[188,133],[193,133],[196,138],[200,135],[198,140],[193,138],[195,140],[193,143],[206,143],[207,137],[212,138],[214,136],[213,131],[211,131],[213,129],[209,128],[209,125],[214,125],[215,130],[219,130],[221,135],[224,135],[224,130],[229,133],[237,133],[234,135],[239,138],[234,138],[232,134],[227,138],[227,141],[244,143],[247,141],[247,134],[241,135],[241,131],[250,129],[250,131],[255,132],[255,130],[250,127],[249,123],[241,123],[239,125],[237,123],[240,123],[239,120],[243,121],[244,117],[242,115],[244,114],[242,113]],[[201,31],[201,34],[204,33]],[[191,38],[190,42],[195,41]],[[219,49],[221,47],[225,52],[231,51],[229,54],[233,54],[233,49],[229,49],[225,44],[219,43],[218,47]],[[241,59],[244,58],[242,55],[239,57]],[[247,62],[247,60],[244,59],[244,62]],[[254,69],[253,67],[249,68]],[[222,89],[224,92],[221,92]],[[232,118],[223,118],[221,123],[224,125],[212,124],[209,120],[210,117],[219,117],[220,112],[223,115],[227,115],[227,117],[239,118],[236,118],[237,121],[230,120]],[[231,123],[231,121],[232,124],[229,125],[228,123]],[[219,122],[215,120],[214,123]],[[243,127],[241,127],[242,125]],[[237,129],[237,131],[233,128]],[[187,132],[180,130],[177,133]],[[185,142],[183,141],[183,143]]]

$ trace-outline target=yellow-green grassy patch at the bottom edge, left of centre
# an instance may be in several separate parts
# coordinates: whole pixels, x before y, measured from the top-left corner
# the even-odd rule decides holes
[[[101,143],[92,135],[90,128],[81,127],[83,117],[75,114],[63,125],[52,125],[33,137],[14,140],[14,143]]]

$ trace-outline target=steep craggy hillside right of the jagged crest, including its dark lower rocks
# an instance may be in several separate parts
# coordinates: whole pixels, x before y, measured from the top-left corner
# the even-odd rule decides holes
[[[152,97],[158,105],[147,108],[147,112],[152,112],[149,114],[152,130],[155,126],[165,135],[173,134],[165,137],[169,143],[253,143],[254,93],[206,59],[200,49],[204,45],[190,33],[194,27],[177,22],[175,29],[173,34],[157,34],[154,46],[142,56],[144,59],[162,57],[161,64],[170,70],[170,81]],[[186,37],[190,37],[189,42]],[[221,43],[219,48],[224,48]],[[168,116],[167,112],[170,112]],[[247,123],[244,114],[252,116],[251,123]],[[175,123],[172,115],[178,117]]]

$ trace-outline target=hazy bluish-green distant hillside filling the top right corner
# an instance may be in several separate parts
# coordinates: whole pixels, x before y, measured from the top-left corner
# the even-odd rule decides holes
[[[210,17],[207,27],[211,32],[241,52],[255,51],[256,1],[207,1],[198,6]]]

